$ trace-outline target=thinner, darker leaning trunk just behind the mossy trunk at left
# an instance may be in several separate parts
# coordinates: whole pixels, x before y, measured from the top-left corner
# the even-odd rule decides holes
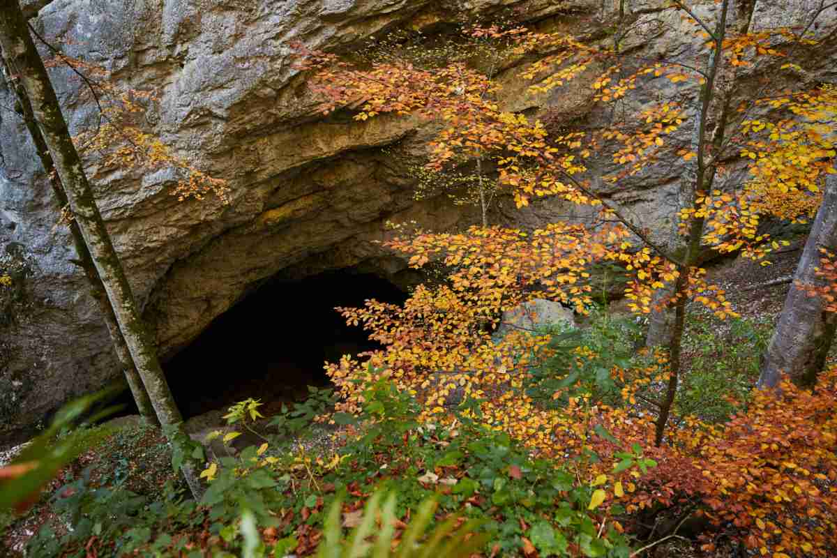
[[[4,65],[6,66],[6,73],[11,76],[11,71],[8,70],[8,64]],[[18,100],[20,114],[29,131],[29,135],[32,136],[32,141],[41,160],[41,165],[44,166],[44,172],[49,178],[49,184],[52,186],[55,201],[58,203],[59,208],[64,207],[67,205],[67,195],[64,192],[61,179],[55,171],[52,156],[49,155],[49,148],[44,141],[44,136],[41,134],[35,122],[32,105],[25,91],[21,89],[20,84],[14,79],[8,79],[8,85]],[[93,259],[90,258],[90,251],[85,245],[85,239],[81,236],[79,225],[75,221],[69,223],[69,232],[73,237],[75,253],[79,256],[78,263],[81,269],[84,269],[85,277],[88,283],[90,283],[90,294],[95,299],[97,305],[99,305],[101,315],[105,319],[105,325],[107,325],[108,332],[110,333],[110,340],[113,342],[114,350],[116,351],[116,358],[119,360],[122,371],[125,373],[125,379],[128,382],[128,387],[131,389],[131,395],[134,397],[136,407],[146,422],[152,425],[159,425],[157,415],[154,413],[154,407],[151,407],[151,400],[148,398],[146,388],[142,385],[140,375],[134,366],[131,352],[128,351],[128,346],[126,346],[125,339],[119,330],[119,324],[116,323],[116,315],[114,315],[113,309],[110,307],[110,301],[107,299],[107,294],[105,293],[105,286],[102,284],[99,272],[96,271]]]

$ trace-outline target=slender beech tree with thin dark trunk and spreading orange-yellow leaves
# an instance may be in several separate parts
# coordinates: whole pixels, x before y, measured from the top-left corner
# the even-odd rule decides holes
[[[492,351],[502,355],[504,349],[490,345],[479,332],[480,323],[496,321],[497,313],[544,292],[584,311],[588,270],[581,269],[579,262],[583,266],[613,261],[629,275],[625,293],[635,311],[649,314],[656,305],[670,308],[675,315],[667,346],[669,373],[663,397],[655,402],[655,442],[660,444],[683,369],[681,346],[688,303],[706,305],[720,318],[736,315],[724,291],[705,279],[701,262],[706,251],[738,252],[763,260],[779,246],[759,232],[764,216],[801,221],[815,212],[819,185],[834,156],[822,116],[837,106],[834,91],[826,86],[775,95],[765,83],[756,95],[739,102],[735,74],[757,60],[773,59],[788,60],[783,71],[799,71],[792,54],[800,45],[816,44],[808,30],[828,6],[821,4],[808,27],[798,32],[788,28],[750,32],[752,5],[738,6],[732,0],[719,3],[712,25],[684,3],[674,7],[706,40],[703,64],[667,60],[649,64],[620,54],[618,42],[611,49],[581,44],[562,33],[515,31],[512,56],[546,53],[521,72],[522,78],[536,80],[531,86],[536,92],[553,90],[587,69],[601,67],[603,71],[593,80],[593,100],[601,105],[626,100],[631,90],[650,86],[658,78],[696,85],[683,95],[647,103],[639,114],[614,120],[593,133],[564,128],[550,134],[537,120],[501,110],[494,95],[499,85],[485,86],[485,77],[460,61],[421,68],[409,59],[391,58],[369,68],[333,54],[300,49],[305,59],[302,66],[318,72],[314,90],[325,101],[324,112],[348,106],[359,110],[357,120],[409,114],[439,123],[441,131],[429,146],[429,169],[444,172],[463,159],[485,160],[490,155],[497,184],[518,207],[537,197],[557,196],[600,209],[599,223],[582,226],[568,236],[561,226],[529,233],[484,226],[464,235],[420,233],[389,243],[417,267],[433,259],[447,264],[454,269],[450,284],[417,291],[403,310],[372,302],[366,309],[344,309],[344,314],[350,323],[362,322],[392,349],[376,362],[388,366],[393,375],[413,378],[404,381],[405,386],[414,386],[414,381],[423,389],[432,386],[434,382],[419,378],[439,370],[442,363],[441,369],[452,381],[428,393],[434,402],[431,408],[441,408],[439,403],[456,385],[487,392],[484,387],[471,387],[475,377],[486,378],[488,383],[511,380],[514,358],[501,357],[492,365],[489,355]],[[477,28],[468,33],[484,35],[486,31]],[[500,34],[497,30],[488,33]],[[790,44],[786,52],[774,49],[779,39]],[[753,116],[759,108],[773,111],[770,120]],[[692,120],[692,131],[684,142],[675,132],[686,120]],[[616,171],[591,176],[584,161],[593,151],[612,154]],[[736,153],[750,175],[743,187],[723,183],[730,171],[728,158]],[[675,215],[681,238],[673,246],[655,240],[645,223],[602,193],[605,186],[618,186],[650,171],[664,156],[690,161]],[[609,236],[596,238],[592,233],[601,223],[614,222],[618,226]],[[588,258],[567,259],[564,254],[573,247],[588,250]],[[539,265],[544,266],[542,274],[530,274]],[[670,294],[660,292],[666,284],[671,285]],[[482,315],[477,318],[475,312]],[[463,316],[463,324],[470,324],[465,330],[471,335],[462,335],[463,330],[450,324],[456,314]],[[437,346],[435,336],[446,341]],[[454,339],[460,343],[445,348]],[[429,350],[430,346],[440,350]],[[431,358],[423,359],[428,354]],[[480,362],[465,366],[468,358]],[[365,372],[362,367],[352,371],[352,363],[343,362],[331,373],[351,392],[344,379]]]

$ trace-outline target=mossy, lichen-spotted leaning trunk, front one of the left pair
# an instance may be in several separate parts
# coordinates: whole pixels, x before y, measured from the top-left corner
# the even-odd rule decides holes
[[[35,121],[38,122],[44,141],[49,147],[61,183],[66,188],[75,223],[78,224],[90,250],[90,256],[105,286],[110,306],[116,315],[148,397],[151,398],[157,418],[163,425],[182,428],[182,416],[157,361],[157,351],[142,322],[140,310],[131,293],[131,285],[105,228],[99,207],[96,206],[93,190],[87,182],[81,159],[70,139],[67,123],[61,114],[58,99],[44,68],[44,61],[29,35],[18,0],[0,0],[0,48],[8,60],[9,69],[20,80],[23,91],[30,100]],[[197,475],[191,468],[184,468],[183,473],[189,488],[198,498],[202,493],[202,487]]]

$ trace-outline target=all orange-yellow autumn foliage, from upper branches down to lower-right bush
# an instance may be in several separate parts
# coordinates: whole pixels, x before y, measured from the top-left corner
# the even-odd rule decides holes
[[[780,29],[731,35],[721,54],[732,66],[750,64],[755,55],[781,56],[769,46],[770,38],[787,33]],[[540,49],[557,53],[524,70],[522,77],[538,82],[531,88],[536,93],[578,77],[593,60],[615,55],[559,34],[516,30],[512,38],[515,56]],[[483,227],[390,240],[388,246],[405,254],[414,267],[438,264],[448,277],[444,284],[420,286],[403,307],[370,300],[360,309],[340,309],[350,324],[363,325],[372,339],[386,346],[367,362],[346,357],[327,366],[346,396],[343,408],[356,410],[362,402],[356,381],[364,376],[388,376],[418,395],[425,403],[425,419],[443,417],[452,400],[477,397],[488,426],[511,433],[533,453],[562,461],[578,458],[573,462],[578,479],[602,486],[596,492],[604,494],[604,501],[622,502],[629,513],[655,504],[699,504],[712,521],[761,555],[837,552],[837,369],[823,375],[813,394],[790,384],[777,393],[755,392],[752,402],[723,426],[684,417],[670,428],[664,445],[652,448],[653,416],[638,414],[636,402],[649,385],[668,379],[663,356],[655,356],[642,369],[614,366],[609,371],[622,390],[622,407],[594,402],[589,392],[572,386],[568,389],[576,392],[555,394],[566,396],[567,405],[554,409],[516,389],[549,356],[549,337],[512,332],[492,340],[490,335],[503,310],[535,296],[561,300],[584,313],[590,301],[590,267],[606,262],[619,264],[628,275],[626,294],[633,310],[650,311],[654,291],[686,274],[686,287],[675,297],[706,305],[721,318],[735,315],[725,293],[706,282],[703,269],[687,268],[667,256],[650,243],[646,231],[599,196],[591,181],[583,180],[588,171],[583,161],[593,149],[606,146],[617,166],[606,182],[618,183],[659,161],[668,149],[686,161],[711,161],[722,175],[727,172],[718,158],[722,148],[735,146],[752,180],[737,192],[711,187],[704,192],[705,185],[697,185],[693,203],[679,217],[686,228],[706,223],[701,238],[705,246],[721,252],[741,250],[762,259],[778,247],[758,233],[762,216],[809,218],[819,205],[817,185],[824,173],[834,171],[834,144],[823,127],[837,114],[833,88],[761,100],[782,117],[769,123],[743,120],[740,133],[732,134],[720,151],[712,151],[719,146],[703,146],[701,156],[669,146],[675,143],[670,134],[685,120],[684,109],[674,102],[645,107],[633,127],[549,135],[537,120],[501,110],[494,99],[499,86],[465,64],[421,69],[403,61],[357,69],[332,55],[302,54],[303,67],[318,71],[321,81],[315,90],[325,100],[324,112],[350,107],[359,110],[357,120],[385,113],[434,120],[440,131],[430,143],[429,169],[445,171],[490,157],[496,183],[518,207],[535,197],[557,196],[601,209],[588,228],[567,223],[529,232]],[[682,64],[650,64],[614,81],[620,69],[612,64],[594,79],[596,101],[623,98],[639,79],[663,76],[679,83],[703,82],[706,77]],[[634,237],[647,245],[637,246]],[[824,273],[833,272],[829,266],[824,264]],[[593,355],[579,347],[573,357],[584,361]],[[644,456],[657,463],[647,475],[620,467],[624,458],[619,454],[633,444],[645,448]],[[598,461],[583,458],[589,452],[595,452]],[[712,545],[706,540],[706,550]]]

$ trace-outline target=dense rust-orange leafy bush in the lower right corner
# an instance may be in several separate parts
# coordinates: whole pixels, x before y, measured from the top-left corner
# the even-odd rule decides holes
[[[837,366],[821,376],[814,392],[755,392],[697,452],[707,513],[761,555],[837,552]]]

